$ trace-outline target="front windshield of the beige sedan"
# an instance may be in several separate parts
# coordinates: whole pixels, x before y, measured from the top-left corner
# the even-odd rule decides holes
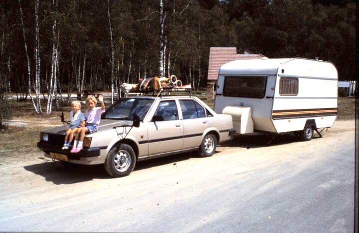
[[[124,98],[118,100],[105,113],[105,119],[133,120],[134,115],[138,115],[140,120],[146,116],[154,99],[152,98]]]

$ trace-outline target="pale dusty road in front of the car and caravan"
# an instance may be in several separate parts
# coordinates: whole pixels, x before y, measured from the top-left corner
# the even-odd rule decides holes
[[[118,179],[40,151],[11,158],[0,162],[0,231],[353,232],[354,137],[354,120],[309,142],[236,137],[210,158],[139,162]]]

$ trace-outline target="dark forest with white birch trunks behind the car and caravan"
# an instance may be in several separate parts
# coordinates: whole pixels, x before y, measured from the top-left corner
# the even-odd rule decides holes
[[[39,114],[41,96],[49,114],[63,93],[111,90],[113,102],[139,78],[206,87],[211,46],[319,57],[356,79],[354,0],[0,0],[0,12],[0,99]]]

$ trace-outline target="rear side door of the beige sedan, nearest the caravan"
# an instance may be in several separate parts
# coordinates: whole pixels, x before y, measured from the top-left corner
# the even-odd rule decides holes
[[[208,128],[205,109],[195,100],[179,100],[183,117],[183,148],[199,147],[203,132]]]

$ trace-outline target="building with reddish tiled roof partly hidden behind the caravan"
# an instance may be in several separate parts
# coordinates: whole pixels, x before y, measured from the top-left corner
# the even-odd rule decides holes
[[[243,54],[237,54],[236,47],[210,47],[207,77],[207,98],[214,98],[214,88],[218,78],[218,71],[221,65],[240,59],[261,59],[262,54],[252,54],[244,50]]]

